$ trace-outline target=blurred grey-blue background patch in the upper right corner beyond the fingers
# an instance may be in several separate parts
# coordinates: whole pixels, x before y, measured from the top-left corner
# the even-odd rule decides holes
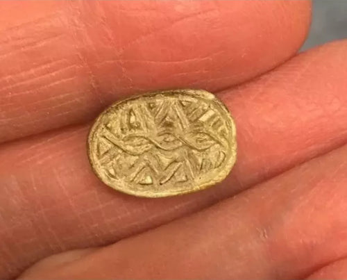
[[[303,50],[347,38],[347,0],[314,0],[310,35]]]

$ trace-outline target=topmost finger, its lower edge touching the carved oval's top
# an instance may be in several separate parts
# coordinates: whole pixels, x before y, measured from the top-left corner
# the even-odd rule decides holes
[[[212,92],[292,56],[310,1],[8,1],[0,10],[0,142],[86,122],[115,99]]]

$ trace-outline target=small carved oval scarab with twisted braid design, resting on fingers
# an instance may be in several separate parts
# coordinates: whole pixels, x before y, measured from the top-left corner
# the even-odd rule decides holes
[[[88,154],[106,185],[138,197],[196,192],[226,178],[235,124],[205,90],[151,92],[116,102],[96,119]]]

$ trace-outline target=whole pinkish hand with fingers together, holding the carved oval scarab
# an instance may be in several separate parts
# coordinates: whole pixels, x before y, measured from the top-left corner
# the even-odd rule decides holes
[[[347,42],[297,54],[309,1],[7,1],[0,9],[0,279],[347,277]],[[203,88],[238,159],[219,186],[103,185],[91,121]]]

